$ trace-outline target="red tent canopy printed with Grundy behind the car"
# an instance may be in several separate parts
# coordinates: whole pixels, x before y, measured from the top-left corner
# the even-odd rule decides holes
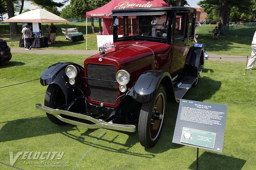
[[[149,7],[162,7],[169,6],[163,0],[111,0],[104,6],[101,6],[92,11],[86,12],[86,17],[95,18],[109,18],[113,9],[124,8],[149,8]]]

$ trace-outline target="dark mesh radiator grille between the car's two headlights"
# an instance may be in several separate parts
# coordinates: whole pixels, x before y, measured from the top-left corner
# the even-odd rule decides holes
[[[116,67],[112,65],[87,64],[88,96],[91,100],[115,104],[117,98]],[[100,79],[100,80],[92,80]]]

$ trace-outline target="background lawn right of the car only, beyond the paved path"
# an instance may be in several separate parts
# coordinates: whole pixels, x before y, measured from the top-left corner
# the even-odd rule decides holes
[[[251,42],[255,27],[230,26],[229,36],[219,36],[219,40],[212,40],[212,30],[218,25],[198,26],[198,43],[205,44],[209,54],[250,56]]]

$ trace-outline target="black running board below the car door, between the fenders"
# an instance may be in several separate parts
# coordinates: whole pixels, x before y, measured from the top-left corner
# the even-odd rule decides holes
[[[177,86],[174,88],[177,100],[180,100],[186,94],[189,88],[192,87],[192,84],[195,82],[195,80],[196,77],[184,77],[183,80],[177,83]]]

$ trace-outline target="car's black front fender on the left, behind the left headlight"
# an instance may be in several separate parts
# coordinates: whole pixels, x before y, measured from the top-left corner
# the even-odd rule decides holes
[[[69,78],[66,75],[65,69],[67,65],[75,65],[78,68],[78,76],[76,77],[76,84],[70,85]],[[66,99],[66,110],[77,102],[79,99],[84,97],[85,91],[85,79],[84,68],[73,62],[58,62],[49,66],[41,74],[41,85],[56,84],[63,91]]]

